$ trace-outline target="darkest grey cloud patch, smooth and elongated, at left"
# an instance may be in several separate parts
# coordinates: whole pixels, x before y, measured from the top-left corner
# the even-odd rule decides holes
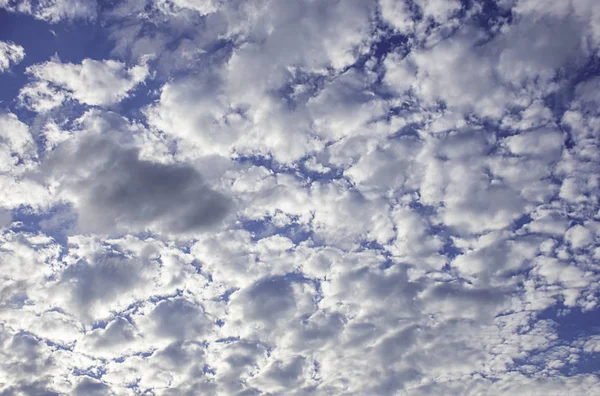
[[[78,201],[82,231],[194,232],[216,225],[230,209],[231,201],[189,165],[146,161],[137,149],[102,137],[70,148],[51,167]]]

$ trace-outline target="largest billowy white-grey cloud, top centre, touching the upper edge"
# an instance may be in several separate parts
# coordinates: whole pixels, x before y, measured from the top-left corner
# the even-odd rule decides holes
[[[203,154],[260,154],[288,162],[322,147],[319,136],[311,131],[313,121],[303,111],[304,103],[316,93],[302,79],[329,78],[327,68],[334,70],[331,76],[334,77],[367,52],[374,4],[352,1],[344,7],[327,2],[291,6],[291,3],[285,6],[271,3],[269,7],[231,3],[208,16],[210,21],[225,19],[230,28],[223,33],[225,37],[246,44],[226,52],[224,67],[204,69],[163,86],[159,103],[148,109],[150,123],[181,139],[188,150]],[[300,18],[293,16],[294,12]],[[272,31],[265,30],[267,25],[273,26]],[[178,50],[189,54],[183,45]],[[202,62],[203,56],[200,54],[196,59]],[[332,105],[345,93],[352,92],[357,84],[351,81],[352,77],[349,73],[339,84],[332,84],[330,91],[340,91],[328,92]],[[342,80],[347,80],[346,84]],[[288,111],[277,95],[290,89],[299,96],[299,106],[294,112]],[[358,91],[356,94],[361,95]],[[360,101],[355,105],[360,106]],[[376,107],[377,103],[371,105]],[[316,102],[312,111],[318,112],[319,108],[320,103]],[[341,123],[350,112],[340,106],[339,113],[337,120],[321,122],[334,122],[330,127],[323,126],[328,129],[322,133],[325,137],[331,134],[335,137],[338,131],[347,128]],[[358,117],[355,124],[365,121],[362,114],[352,113]],[[293,144],[290,135],[294,136]],[[255,145],[257,140],[262,142],[259,147]]]

